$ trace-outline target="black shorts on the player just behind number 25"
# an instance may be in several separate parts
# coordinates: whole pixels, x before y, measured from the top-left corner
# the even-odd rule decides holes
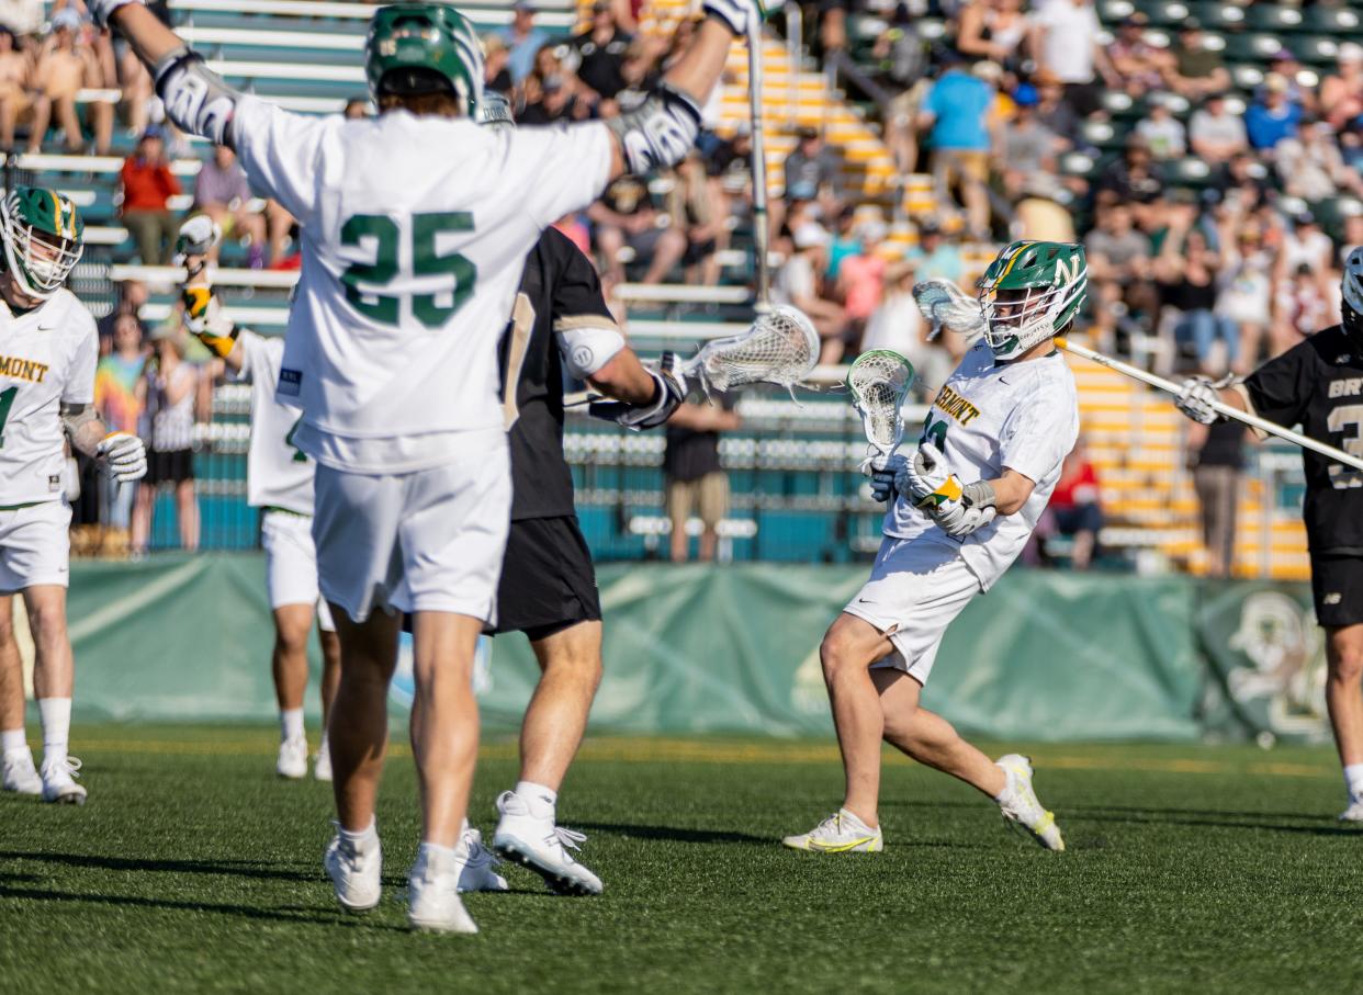
[[[601,617],[592,552],[577,515],[511,522],[497,587],[497,622],[488,632],[532,641]]]

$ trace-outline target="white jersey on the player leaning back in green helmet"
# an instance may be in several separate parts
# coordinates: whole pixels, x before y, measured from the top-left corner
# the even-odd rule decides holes
[[[923,440],[946,455],[961,483],[998,480],[1009,468],[1036,483],[1032,496],[1015,514],[999,515],[964,538],[947,536],[927,512],[900,497],[886,511],[885,534],[958,547],[981,590],[988,590],[1026,545],[1078,436],[1074,375],[1059,353],[994,365],[988,345],[977,342],[938,391]]]

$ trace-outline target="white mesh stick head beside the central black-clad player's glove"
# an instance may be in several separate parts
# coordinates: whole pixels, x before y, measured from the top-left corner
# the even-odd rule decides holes
[[[789,390],[808,378],[818,361],[819,333],[804,313],[781,305],[758,315],[747,331],[707,342],[680,368],[687,376],[699,373],[706,390],[748,383]]]

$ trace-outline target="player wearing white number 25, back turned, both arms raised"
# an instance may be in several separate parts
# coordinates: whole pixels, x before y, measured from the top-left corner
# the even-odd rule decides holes
[[[379,902],[373,804],[397,612],[410,612],[424,818],[408,916],[416,928],[474,932],[457,891],[477,752],[470,672],[510,518],[496,353],[521,263],[544,228],[616,176],[686,157],[729,46],[762,3],[706,0],[691,46],[620,117],[514,132],[476,123],[483,56],[472,25],[444,4],[375,11],[372,120],[286,113],[229,87],[140,0],[87,5],[151,68],[168,116],[232,146],[252,188],[303,226],[278,394],[303,409],[294,442],[318,461],[312,534],[341,637],[330,726],[339,827],[324,860],[337,898],[353,910]],[[673,386],[658,378],[650,403],[620,421],[646,420]]]

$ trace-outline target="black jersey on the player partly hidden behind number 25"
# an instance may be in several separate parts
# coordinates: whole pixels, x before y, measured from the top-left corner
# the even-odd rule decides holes
[[[525,258],[511,324],[502,337],[502,405],[511,444],[511,521],[574,514],[563,457],[563,360],[559,335],[615,327],[592,262],[557,229]]]

